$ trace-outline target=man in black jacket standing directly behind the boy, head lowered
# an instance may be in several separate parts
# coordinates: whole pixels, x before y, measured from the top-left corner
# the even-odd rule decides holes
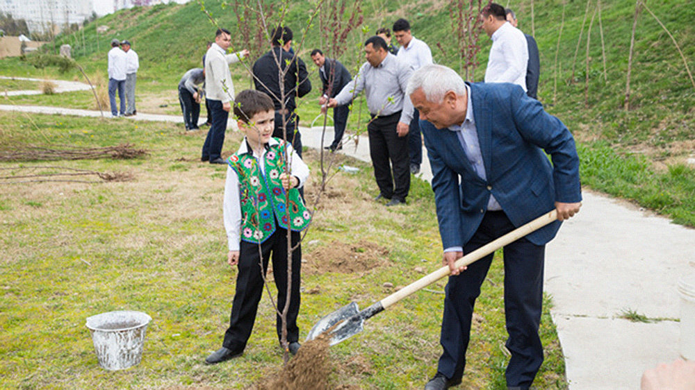
[[[302,135],[298,130],[295,132],[298,121],[295,114],[295,95],[302,97],[311,92],[311,81],[304,61],[290,53],[292,38],[292,30],[289,27],[277,26],[273,30],[272,49],[254,62],[254,85],[256,90],[270,96],[275,105],[275,130],[272,136],[286,137],[302,157]],[[283,77],[282,92],[278,77],[280,73]]]

